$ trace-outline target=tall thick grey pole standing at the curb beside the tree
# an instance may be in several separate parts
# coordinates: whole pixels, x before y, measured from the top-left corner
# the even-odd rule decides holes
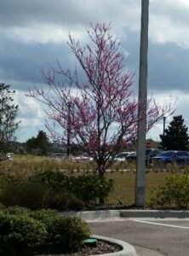
[[[145,203],[146,172],[146,98],[147,98],[147,47],[148,47],[148,9],[149,0],[141,0],[140,24],[140,75],[139,75],[139,118],[137,133],[137,161],[135,206],[143,207]]]

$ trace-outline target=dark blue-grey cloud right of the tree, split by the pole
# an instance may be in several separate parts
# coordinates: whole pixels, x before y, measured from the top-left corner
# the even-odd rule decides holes
[[[138,86],[140,34],[125,30],[122,50],[129,52],[124,59],[126,67],[135,72],[135,86]],[[148,46],[148,90],[188,90],[189,50],[177,44],[155,44]]]

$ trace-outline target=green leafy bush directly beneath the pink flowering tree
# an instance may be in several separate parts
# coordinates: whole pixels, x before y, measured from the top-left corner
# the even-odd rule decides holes
[[[100,197],[106,199],[113,189],[112,179],[102,179],[98,175],[66,177],[63,172],[43,171],[37,172],[31,179],[50,189],[53,198],[49,207],[54,207],[54,203],[58,204],[60,201],[60,204],[67,208],[74,208],[72,206],[78,208],[79,205],[83,206],[82,202],[91,203]],[[65,195],[64,198],[63,195]]]

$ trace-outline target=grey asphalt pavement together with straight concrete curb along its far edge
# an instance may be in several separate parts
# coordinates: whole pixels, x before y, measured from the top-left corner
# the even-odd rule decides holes
[[[188,211],[106,210],[71,214],[89,222],[95,235],[126,241],[139,256],[189,255]]]

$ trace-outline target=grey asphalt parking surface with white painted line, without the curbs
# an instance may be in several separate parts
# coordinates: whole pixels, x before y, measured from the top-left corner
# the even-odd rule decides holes
[[[127,241],[163,255],[189,255],[189,218],[120,218],[89,223],[96,235]],[[147,254],[150,255],[150,254]]]

